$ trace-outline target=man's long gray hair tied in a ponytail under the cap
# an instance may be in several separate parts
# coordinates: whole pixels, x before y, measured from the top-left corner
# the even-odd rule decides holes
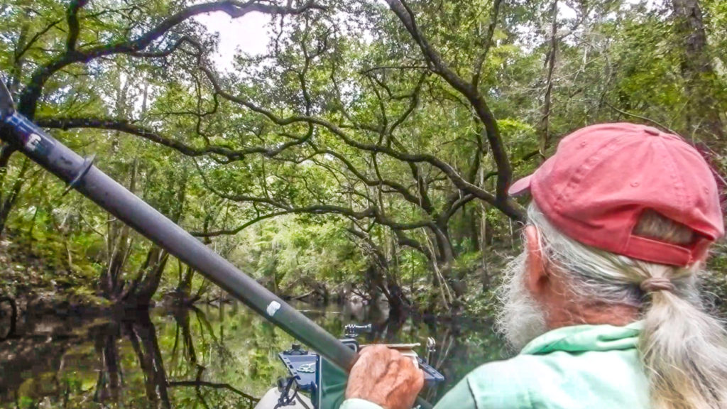
[[[667,266],[583,245],[558,231],[534,203],[528,219],[538,231],[545,263],[563,274],[574,299],[640,309],[639,350],[654,409],[727,408],[727,331],[703,309],[700,263]],[[694,239],[688,227],[651,211],[634,233],[681,245]],[[640,290],[641,282],[654,277],[669,279],[675,290]]]

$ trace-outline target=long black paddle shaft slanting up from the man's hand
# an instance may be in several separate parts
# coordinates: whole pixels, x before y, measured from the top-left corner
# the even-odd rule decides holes
[[[5,142],[64,180],[69,190],[76,189],[337,367],[348,373],[353,366],[356,353],[352,349],[101,172],[93,165],[92,157],[81,158],[18,114],[10,93],[0,81],[2,123],[9,127],[9,132],[0,133]],[[417,398],[417,403],[422,408],[431,408],[421,398]]]

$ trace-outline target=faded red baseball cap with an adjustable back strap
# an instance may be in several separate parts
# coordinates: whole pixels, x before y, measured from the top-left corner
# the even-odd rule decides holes
[[[688,266],[724,235],[709,165],[682,138],[653,127],[598,124],[571,133],[509,193],[528,190],[567,236],[643,261]],[[688,226],[699,239],[674,245],[632,234],[644,210]]]

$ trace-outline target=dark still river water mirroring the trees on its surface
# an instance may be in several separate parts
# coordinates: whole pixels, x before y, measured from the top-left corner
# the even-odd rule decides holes
[[[369,323],[362,342],[437,340],[448,381],[504,355],[491,327],[422,318],[386,319],[345,306],[298,308],[336,336]],[[252,408],[285,375],[278,352],[294,341],[241,304],[126,312],[116,319],[40,317],[0,343],[0,408]],[[419,351],[423,354],[423,349]]]

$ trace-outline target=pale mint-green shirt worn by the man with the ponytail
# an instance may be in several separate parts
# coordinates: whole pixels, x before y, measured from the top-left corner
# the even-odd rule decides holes
[[[648,409],[636,346],[641,323],[577,325],[535,338],[518,356],[473,370],[435,408]],[[381,409],[360,399],[340,409]]]

